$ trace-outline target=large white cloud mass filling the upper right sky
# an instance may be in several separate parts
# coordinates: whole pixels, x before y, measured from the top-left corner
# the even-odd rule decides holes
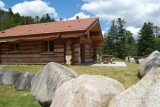
[[[126,20],[133,34],[137,34],[144,22],[151,21],[160,26],[160,0],[83,0],[81,9],[102,20],[117,18]],[[131,27],[132,26],[132,27]]]

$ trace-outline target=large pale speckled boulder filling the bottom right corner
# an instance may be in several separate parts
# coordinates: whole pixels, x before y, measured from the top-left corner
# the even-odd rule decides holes
[[[160,64],[159,64],[160,65]],[[155,65],[136,85],[117,94],[109,107],[159,107],[160,67]]]

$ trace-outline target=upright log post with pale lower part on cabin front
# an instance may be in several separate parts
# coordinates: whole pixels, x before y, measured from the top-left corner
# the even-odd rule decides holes
[[[72,40],[68,39],[66,40],[66,64],[71,65],[72,64]]]

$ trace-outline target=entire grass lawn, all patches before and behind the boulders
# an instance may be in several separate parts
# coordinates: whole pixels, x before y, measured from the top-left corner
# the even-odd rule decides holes
[[[79,75],[103,75],[121,82],[125,88],[137,83],[138,64],[126,63],[127,67],[67,66]],[[44,65],[1,65],[8,70],[38,72]],[[29,91],[16,91],[12,86],[0,85],[0,107],[40,107]]]

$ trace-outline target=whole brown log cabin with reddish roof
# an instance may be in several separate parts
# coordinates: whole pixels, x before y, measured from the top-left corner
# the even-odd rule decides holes
[[[20,25],[0,31],[0,64],[81,64],[103,44],[98,18]]]

